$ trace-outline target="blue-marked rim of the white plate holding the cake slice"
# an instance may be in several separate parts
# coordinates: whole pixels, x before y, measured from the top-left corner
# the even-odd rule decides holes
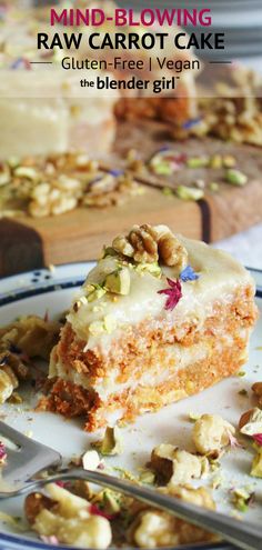
[[[88,271],[94,262],[72,262],[51,269],[39,269],[7,277],[0,280],[0,307],[8,306],[26,298],[38,294],[56,292],[57,290],[77,288],[83,283]],[[70,277],[68,270],[70,269]],[[256,297],[262,299],[262,270],[248,268],[256,283]],[[69,546],[52,546],[37,540],[30,540],[14,534],[0,532],[1,550],[69,550]],[[180,547],[181,550],[233,550],[226,542],[188,544]],[[80,549],[81,550],[81,549]],[[87,550],[87,549],[85,549]],[[164,550],[164,549],[162,549]],[[165,549],[167,550],[167,549]],[[170,550],[170,547],[169,547]],[[174,550],[174,549],[173,549]]]

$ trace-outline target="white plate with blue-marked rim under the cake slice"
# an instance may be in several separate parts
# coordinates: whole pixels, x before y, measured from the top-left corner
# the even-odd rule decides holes
[[[14,276],[0,281],[0,326],[12,321],[16,317],[28,313],[43,316],[49,311],[50,317],[61,313],[72,300],[75,288],[85,277],[92,263],[73,263],[57,268],[54,271],[39,270],[22,276]],[[258,282],[258,304],[262,311],[262,272],[253,271]],[[16,290],[13,290],[16,289]],[[250,408],[251,398],[242,397],[239,391],[246,389],[253,381],[261,379],[259,364],[261,364],[262,322],[256,326],[252,336],[250,361],[244,368],[244,378],[234,377],[224,380],[214,388],[205,390],[199,396],[174,403],[158,413],[145,414],[135,423],[122,430],[124,452],[121,457],[109,458],[110,466],[118,466],[137,471],[139,466],[144,466],[149,460],[152,448],[160,442],[171,442],[182,448],[192,449],[190,433],[192,424],[188,420],[190,411],[195,413],[220,413],[234,426],[238,424],[240,414]],[[36,403],[37,396],[31,390],[31,404]],[[24,404],[4,404],[1,410],[6,414],[6,421],[22,432],[32,432],[32,437],[60,451],[66,459],[72,454],[81,454],[90,441],[98,439],[97,434],[88,434],[81,430],[81,420],[66,421],[62,417],[33,412]],[[233,508],[229,502],[229,488],[232,486],[252,484],[258,496],[256,504],[243,516],[243,520],[260,522],[262,520],[259,500],[261,501],[262,481],[249,477],[252,450],[232,450],[222,460],[224,483],[223,489],[214,491],[218,509],[231,513]],[[202,482],[201,482],[202,483]],[[22,514],[23,499],[9,499],[1,502],[1,510],[12,516]],[[2,550],[26,550],[31,548],[56,550],[37,540],[32,532],[16,533],[10,526],[3,522],[0,526],[0,548]],[[63,547],[60,547],[63,548]],[[66,548],[66,547],[64,547]],[[67,547],[68,548],[68,547]],[[189,550],[189,547],[187,547]],[[229,549],[228,544],[204,544],[202,549]],[[185,547],[183,547],[185,550]]]

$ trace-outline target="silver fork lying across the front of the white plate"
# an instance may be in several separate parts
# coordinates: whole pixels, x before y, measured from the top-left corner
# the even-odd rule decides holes
[[[262,530],[255,524],[238,521],[225,514],[190,504],[183,500],[162,494],[159,491],[113,476],[99,471],[73,469],[61,470],[43,479],[32,479],[32,476],[43,468],[51,464],[59,464],[61,462],[59,452],[22,436],[3,422],[0,422],[0,434],[4,436],[19,448],[19,452],[8,451],[8,464],[3,467],[2,476],[3,482],[7,481],[7,488],[4,488],[4,483],[1,487],[0,482],[0,500],[24,494],[31,490],[44,487],[47,483],[83,479],[117,490],[128,497],[137,498],[151,507],[160,508],[194,526],[218,533],[224,540],[243,550],[262,550]],[[16,452],[19,458],[16,458]],[[23,459],[23,453],[28,453],[27,461]],[[41,457],[41,454],[43,456]],[[22,459],[21,463],[19,463],[20,459]],[[12,487],[9,487],[10,482]]]

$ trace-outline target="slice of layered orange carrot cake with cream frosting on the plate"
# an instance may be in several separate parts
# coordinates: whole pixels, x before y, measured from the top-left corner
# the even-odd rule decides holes
[[[49,410],[87,430],[157,410],[238,371],[254,284],[229,254],[135,226],[89,273],[52,351]]]

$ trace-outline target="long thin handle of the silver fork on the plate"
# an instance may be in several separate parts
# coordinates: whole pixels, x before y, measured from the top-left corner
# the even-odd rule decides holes
[[[71,470],[60,472],[58,474],[50,476],[47,479],[29,482],[23,492],[28,492],[28,490],[33,487],[42,487],[47,483],[73,479],[84,479],[102,487],[122,492],[128,497],[134,497],[147,504],[161,508],[162,510],[165,510],[180,519],[187,520],[194,526],[220,534],[223,539],[233,543],[238,548],[242,548],[243,550],[262,550],[262,531],[252,523],[242,523],[232,517],[228,517],[212,510],[206,510],[206,508],[189,504],[178,498],[161,494],[152,489],[137,486],[130,481],[125,481],[113,476],[108,476],[105,473],[100,473],[98,471]]]

